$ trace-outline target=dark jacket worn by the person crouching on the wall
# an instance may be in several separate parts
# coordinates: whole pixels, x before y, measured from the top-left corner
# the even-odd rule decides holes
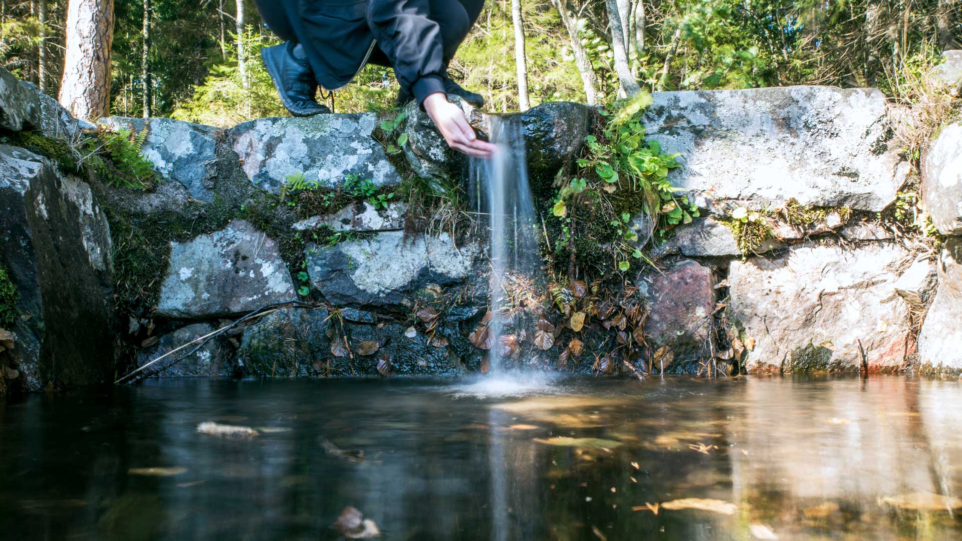
[[[456,2],[457,0],[450,0]],[[317,83],[337,90],[372,55],[386,57],[418,103],[443,92],[443,43],[429,0],[256,0],[267,26],[301,43]],[[378,63],[380,64],[380,63]]]

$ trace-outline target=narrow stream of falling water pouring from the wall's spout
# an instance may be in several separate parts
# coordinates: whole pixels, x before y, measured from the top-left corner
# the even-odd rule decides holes
[[[487,122],[490,141],[497,148],[494,157],[471,161],[469,190],[489,234],[489,366],[496,375],[504,367],[502,340],[508,340],[500,317],[512,308],[506,302],[507,292],[513,285],[530,283],[540,270],[539,227],[528,184],[521,116],[487,116]]]

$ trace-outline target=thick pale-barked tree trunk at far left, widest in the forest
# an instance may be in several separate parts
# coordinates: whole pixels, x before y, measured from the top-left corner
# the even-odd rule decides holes
[[[70,0],[60,103],[71,115],[110,114],[114,0]]]

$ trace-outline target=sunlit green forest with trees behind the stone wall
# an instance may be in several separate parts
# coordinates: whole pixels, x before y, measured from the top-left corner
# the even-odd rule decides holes
[[[68,20],[71,10],[93,16]],[[91,118],[287,115],[258,55],[277,39],[250,0],[0,0],[0,65],[54,96],[77,84],[63,74],[72,34],[109,53]],[[962,0],[489,0],[451,72],[498,112],[640,88],[802,84],[918,102],[919,74],[960,36]],[[339,113],[382,111],[396,92],[391,69],[367,66],[322,99]]]

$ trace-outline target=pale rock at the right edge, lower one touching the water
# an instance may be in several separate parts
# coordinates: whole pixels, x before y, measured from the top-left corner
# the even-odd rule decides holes
[[[962,240],[951,238],[937,265],[939,286],[919,334],[924,371],[962,373]]]

